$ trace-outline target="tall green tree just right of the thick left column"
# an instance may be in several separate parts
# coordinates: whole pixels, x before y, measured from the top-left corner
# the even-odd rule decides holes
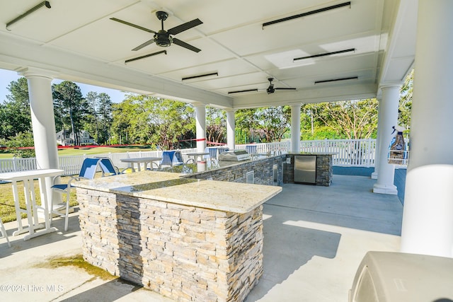
[[[79,86],[70,81],[52,85],[55,125],[57,129],[70,126],[74,144],[80,144],[79,132],[88,113],[88,105]]]

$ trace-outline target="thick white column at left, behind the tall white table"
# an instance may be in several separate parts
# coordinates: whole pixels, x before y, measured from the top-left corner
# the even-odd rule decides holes
[[[52,98],[52,75],[42,69],[25,69],[20,72],[28,81],[33,141],[38,169],[58,169],[57,139]],[[46,178],[47,201],[61,202],[59,194],[52,198],[52,180]]]

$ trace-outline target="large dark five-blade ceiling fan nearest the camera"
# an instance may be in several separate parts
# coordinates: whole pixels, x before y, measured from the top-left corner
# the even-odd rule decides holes
[[[162,28],[158,32],[155,32],[154,30],[150,30],[148,28],[144,28],[140,25],[136,25],[136,24],[133,24],[133,23],[130,23],[127,21],[120,20],[118,18],[110,18],[110,20],[132,26],[133,28],[138,28],[139,30],[144,30],[148,33],[154,33],[154,37],[151,40],[148,40],[147,42],[144,42],[143,44],[135,47],[133,49],[134,51],[141,50],[143,47],[151,45],[154,42],[156,42],[156,45],[159,45],[161,47],[168,47],[172,43],[175,43],[176,45],[187,48],[188,50],[192,50],[193,52],[201,51],[200,49],[198,49],[197,47],[194,47],[193,45],[183,42],[176,37],[172,37],[172,35],[182,33],[185,30],[194,28],[195,26],[202,24],[202,21],[200,21],[200,19],[196,18],[193,21],[183,23],[181,25],[175,26],[174,28],[170,28],[169,30],[164,30],[164,21],[166,21],[166,19],[168,18],[168,13],[165,11],[156,11],[156,16],[161,21],[161,24],[162,24]]]

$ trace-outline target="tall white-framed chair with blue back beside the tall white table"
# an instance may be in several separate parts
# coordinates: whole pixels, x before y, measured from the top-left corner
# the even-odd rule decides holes
[[[64,212],[64,214],[62,214],[57,209],[52,208],[50,210],[50,223],[52,223],[53,214],[64,217],[64,231],[68,230],[69,195],[70,195],[69,193],[70,193],[71,189],[74,188],[74,186],[71,185],[71,182],[74,180],[81,180],[81,179],[92,180],[94,178],[94,175],[96,175],[96,170],[98,168],[98,164],[100,161],[101,161],[101,158],[86,158],[84,160],[84,162],[82,163],[82,167],[80,169],[78,176],[74,176],[71,179],[69,179],[69,182],[67,184],[52,185],[51,188],[53,191],[66,194],[66,211]],[[55,182],[55,179],[54,179],[54,182]],[[59,209],[62,209],[62,207],[59,207]]]

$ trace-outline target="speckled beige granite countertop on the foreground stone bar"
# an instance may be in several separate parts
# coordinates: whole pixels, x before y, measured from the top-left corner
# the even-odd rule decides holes
[[[156,171],[74,182],[88,190],[125,194],[174,204],[247,213],[282,191],[282,187],[217,180],[181,178],[183,174]]]

